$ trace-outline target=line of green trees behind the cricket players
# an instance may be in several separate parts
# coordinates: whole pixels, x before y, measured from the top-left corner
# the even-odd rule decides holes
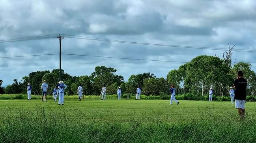
[[[116,69],[112,67],[97,66],[90,76],[71,76],[61,70],[64,83],[68,86],[66,95],[77,94],[78,85],[82,85],[84,95],[99,95],[103,84],[107,86],[107,94],[116,94],[118,87],[123,93],[136,94],[137,85],[142,87],[142,94],[146,96],[169,94],[171,85],[175,85],[178,94],[208,94],[210,87],[217,96],[229,96],[229,88],[237,77],[237,71],[243,71],[248,81],[247,94],[256,94],[256,73],[251,70],[250,63],[238,62],[231,66],[231,60],[222,60],[217,56],[201,55],[192,59],[191,62],[181,65],[179,69],[168,72],[166,78],[157,78],[153,73],[132,74],[125,82],[123,76],[116,75]],[[24,76],[18,82],[14,79],[12,85],[2,88],[0,80],[0,94],[26,94],[27,84],[32,85],[32,94],[41,94],[41,84],[47,80],[54,89],[59,81],[59,69],[50,71],[36,71]]]

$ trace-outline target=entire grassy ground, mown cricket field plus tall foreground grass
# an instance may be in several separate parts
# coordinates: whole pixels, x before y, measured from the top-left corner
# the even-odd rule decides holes
[[[0,101],[1,142],[249,143],[256,142],[256,102],[239,121],[229,101]]]

